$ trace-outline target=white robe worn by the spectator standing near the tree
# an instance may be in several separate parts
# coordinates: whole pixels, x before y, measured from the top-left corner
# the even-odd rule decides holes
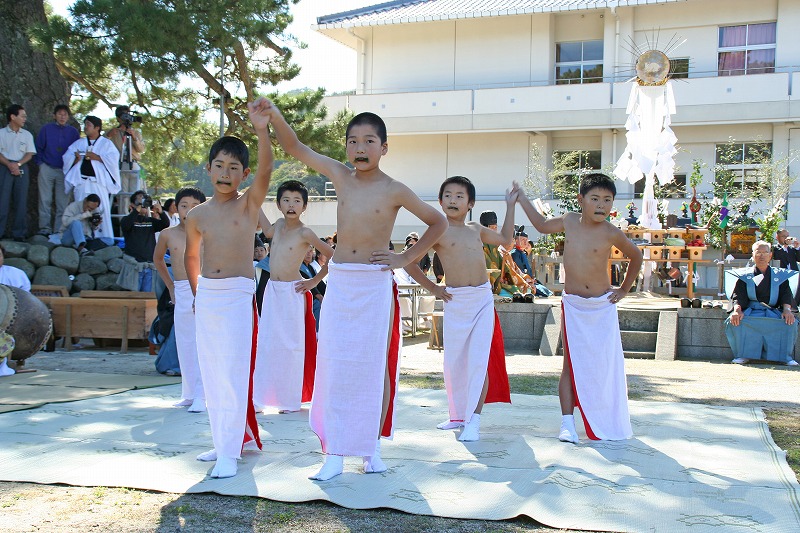
[[[75,201],[86,198],[94,193],[100,197],[98,212],[103,216],[103,222],[95,230],[95,238],[114,238],[111,227],[111,195],[120,191],[119,180],[119,151],[114,143],[105,137],[98,137],[92,143],[91,151],[103,158],[102,161],[92,161],[94,176],[84,178],[81,176],[81,163],[75,162],[75,152],[86,152],[89,141],[81,137],[67,148],[62,160],[64,162],[64,188],[67,194],[74,189]]]

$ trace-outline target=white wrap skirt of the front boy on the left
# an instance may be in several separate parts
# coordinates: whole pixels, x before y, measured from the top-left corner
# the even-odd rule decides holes
[[[197,356],[217,457],[239,458],[249,429],[254,292],[252,278],[197,281]]]

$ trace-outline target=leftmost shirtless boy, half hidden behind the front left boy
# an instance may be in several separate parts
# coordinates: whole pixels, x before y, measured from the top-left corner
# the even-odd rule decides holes
[[[176,226],[161,232],[153,253],[156,270],[169,290],[170,301],[175,304],[175,342],[181,366],[181,401],[175,406],[188,406],[190,413],[202,413],[206,410],[206,396],[203,392],[203,379],[200,376],[200,363],[197,360],[197,339],[194,309],[192,309],[194,295],[183,264],[183,254],[186,250],[185,221],[189,211],[205,201],[206,195],[196,187],[180,189],[175,194],[179,222]],[[164,260],[167,250],[172,263],[171,275]]]

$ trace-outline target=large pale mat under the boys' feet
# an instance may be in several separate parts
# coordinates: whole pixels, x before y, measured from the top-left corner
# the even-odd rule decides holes
[[[513,395],[489,405],[481,440],[440,431],[444,391],[400,390],[389,470],[357,458],[327,482],[308,413],[259,415],[263,452],[210,479],[204,414],[171,407],[178,386],[132,390],[0,415],[0,480],[216,492],[285,502],[328,500],[455,518],[527,515],[604,531],[800,531],[800,486],[758,409],[631,402],[635,438],[580,445],[554,438],[558,398]]]

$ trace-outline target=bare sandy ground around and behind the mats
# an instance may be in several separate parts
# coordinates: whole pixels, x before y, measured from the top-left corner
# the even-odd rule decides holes
[[[401,386],[442,386],[442,354],[426,339],[406,339]],[[27,367],[72,372],[157,375],[146,349],[39,353]],[[512,393],[556,394],[561,357],[512,354]],[[800,367],[739,366],[707,361],[626,360],[632,400],[758,406],[765,409],[790,466],[800,472]],[[0,415],[1,416],[1,415]],[[285,504],[215,494],[169,494],[107,487],[0,483],[0,531],[251,532],[555,531],[525,518],[502,522],[453,520],[391,510],[360,511],[325,502]]]

